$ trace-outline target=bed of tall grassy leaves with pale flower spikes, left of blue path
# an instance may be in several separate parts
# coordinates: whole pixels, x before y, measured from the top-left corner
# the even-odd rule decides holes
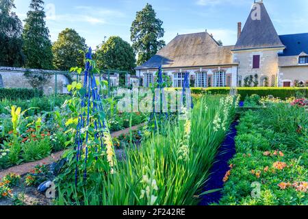
[[[191,118],[166,123],[159,127],[163,129],[159,133],[145,134],[140,148],[127,149],[123,161],[117,161],[110,151],[112,142],[107,135],[104,139],[106,149],[88,150],[87,181],[84,181],[84,158],[77,162],[75,153],[67,153],[70,162],[56,179],[60,188],[57,203],[197,204],[209,177],[209,168],[233,121],[235,105],[238,103],[231,96],[203,97],[196,103]],[[79,178],[76,185],[77,164]]]

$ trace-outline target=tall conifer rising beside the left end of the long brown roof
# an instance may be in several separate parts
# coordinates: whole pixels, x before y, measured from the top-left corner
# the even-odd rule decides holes
[[[164,40],[159,40],[164,37],[162,24],[149,3],[142,11],[137,12],[136,20],[131,25],[131,42],[134,51],[138,53],[138,65],[148,61],[165,46]]]

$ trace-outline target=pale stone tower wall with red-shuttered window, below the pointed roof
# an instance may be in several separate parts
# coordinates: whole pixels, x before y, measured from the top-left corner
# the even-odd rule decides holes
[[[250,75],[259,76],[259,86],[262,86],[261,79],[268,77],[269,86],[276,86],[278,76],[278,53],[279,49],[253,49],[247,51],[233,51],[233,62],[239,63],[238,76],[244,79]],[[260,68],[253,68],[253,55],[260,55]]]

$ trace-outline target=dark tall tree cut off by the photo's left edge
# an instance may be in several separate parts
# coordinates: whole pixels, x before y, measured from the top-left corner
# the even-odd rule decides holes
[[[14,0],[0,0],[0,66],[23,66],[23,24],[12,12]]]

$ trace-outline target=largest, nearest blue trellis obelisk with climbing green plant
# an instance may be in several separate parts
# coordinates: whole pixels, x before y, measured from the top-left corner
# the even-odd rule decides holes
[[[101,96],[99,96],[99,89],[97,87],[97,81],[94,76],[94,67],[92,63],[92,49],[90,48],[86,53],[86,69],[84,72],[84,94],[81,96],[81,110],[78,119],[77,132],[75,136],[76,143],[76,159],[77,167],[75,171],[75,183],[77,184],[79,162],[81,162],[81,155],[84,153],[84,179],[87,177],[86,164],[88,162],[89,149],[97,151],[97,144],[89,146],[89,139],[94,139],[94,142],[99,142],[101,148],[103,148],[103,129],[105,129],[105,123],[103,118],[103,105],[101,102]],[[91,131],[90,131],[91,130]],[[90,136],[92,135],[92,136]]]

